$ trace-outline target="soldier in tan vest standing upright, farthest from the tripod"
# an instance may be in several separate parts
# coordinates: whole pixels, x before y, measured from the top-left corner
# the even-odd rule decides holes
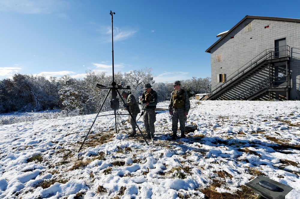
[[[187,114],[190,110],[190,99],[183,89],[181,89],[180,81],[173,83],[174,91],[171,93],[169,113],[172,115],[172,139],[177,138],[178,120],[180,123],[181,137],[185,138],[185,122]]]

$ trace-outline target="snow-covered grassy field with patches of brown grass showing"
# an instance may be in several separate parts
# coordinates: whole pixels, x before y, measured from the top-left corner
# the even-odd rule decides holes
[[[169,112],[159,111],[149,146],[140,134],[128,138],[127,115],[125,122],[118,118],[116,134],[115,116],[101,116],[113,111],[105,112],[79,153],[96,114],[1,125],[0,198],[212,198],[240,193],[265,175],[293,188],[286,199],[298,199],[298,107],[298,101],[191,100],[187,125],[198,129],[171,141]],[[142,118],[138,125],[143,129]]]

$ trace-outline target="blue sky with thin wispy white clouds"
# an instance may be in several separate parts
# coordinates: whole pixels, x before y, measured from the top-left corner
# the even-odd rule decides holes
[[[152,68],[156,82],[211,76],[216,35],[246,15],[300,18],[300,1],[0,0],[0,79],[15,73],[112,74]]]

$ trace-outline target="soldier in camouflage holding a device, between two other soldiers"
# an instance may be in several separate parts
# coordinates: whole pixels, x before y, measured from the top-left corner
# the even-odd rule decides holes
[[[154,139],[156,121],[155,108],[158,102],[158,96],[156,91],[154,91],[152,86],[148,83],[144,85],[144,92],[142,94],[141,104],[143,105],[143,120],[145,124],[145,129],[147,132],[147,137],[149,139]]]

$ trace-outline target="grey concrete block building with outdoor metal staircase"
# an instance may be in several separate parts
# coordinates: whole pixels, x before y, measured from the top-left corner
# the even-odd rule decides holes
[[[208,99],[300,99],[300,19],[247,15],[217,37]]]

